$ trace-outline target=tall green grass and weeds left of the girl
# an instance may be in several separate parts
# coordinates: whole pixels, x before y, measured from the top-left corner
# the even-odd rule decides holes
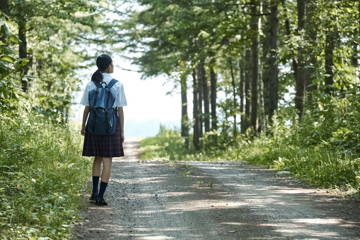
[[[0,124],[1,239],[70,239],[91,173],[80,128],[40,116]]]

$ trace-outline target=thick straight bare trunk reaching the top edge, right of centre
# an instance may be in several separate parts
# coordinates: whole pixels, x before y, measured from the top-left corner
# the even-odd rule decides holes
[[[278,110],[279,100],[279,80],[278,80],[278,33],[279,33],[279,17],[278,4],[271,3],[270,6],[270,59],[269,59],[269,122],[274,115],[274,111]]]

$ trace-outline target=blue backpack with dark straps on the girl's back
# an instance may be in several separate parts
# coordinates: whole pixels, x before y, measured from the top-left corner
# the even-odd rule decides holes
[[[115,132],[116,115],[112,108],[115,94],[110,89],[116,82],[114,78],[109,84],[94,81],[96,89],[89,92],[90,113],[87,119],[87,130],[95,135],[111,135]],[[105,87],[103,87],[104,84]]]

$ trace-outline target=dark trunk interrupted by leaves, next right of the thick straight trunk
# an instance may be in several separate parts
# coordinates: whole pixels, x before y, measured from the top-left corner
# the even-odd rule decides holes
[[[306,0],[297,0],[297,16],[298,16],[298,31],[301,32],[304,28],[306,16]],[[296,78],[296,93],[295,93],[295,106],[298,109],[300,119],[303,118],[305,107],[305,56],[306,51],[303,47],[298,47],[298,66]]]

